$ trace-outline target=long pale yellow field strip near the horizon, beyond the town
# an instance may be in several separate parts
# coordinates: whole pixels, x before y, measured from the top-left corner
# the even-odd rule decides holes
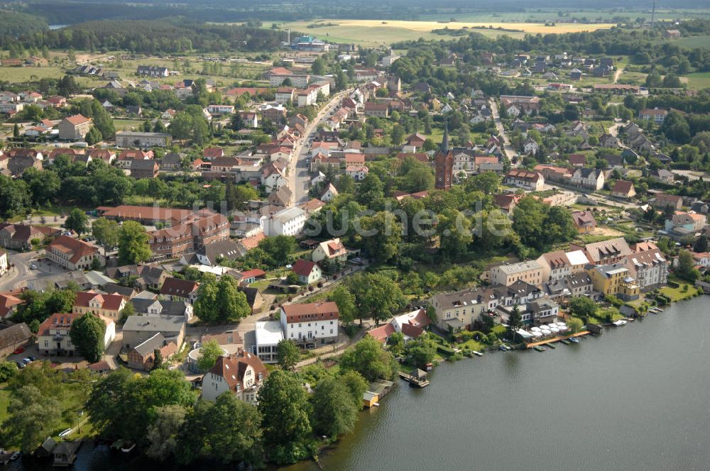
[[[579,31],[596,31],[614,26],[612,23],[582,24],[558,23],[557,26],[545,26],[545,23],[503,23],[501,21],[488,22],[439,22],[439,21],[402,21],[402,20],[322,20],[324,23],[337,23],[337,26],[324,26],[322,28],[307,28],[314,21],[296,21],[284,23],[281,28],[290,28],[295,31],[307,33],[331,41],[358,43],[363,45],[377,45],[395,43],[401,40],[441,39],[445,36],[432,34],[432,30],[449,28],[492,28],[474,29],[484,35],[497,36],[509,35],[522,37],[525,33],[575,33]],[[495,28],[505,28],[520,31],[499,31]]]

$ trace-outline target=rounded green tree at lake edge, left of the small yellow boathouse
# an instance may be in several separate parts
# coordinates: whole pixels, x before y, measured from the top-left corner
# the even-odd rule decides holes
[[[357,408],[348,388],[334,377],[325,377],[311,396],[313,431],[337,437],[355,428]]]

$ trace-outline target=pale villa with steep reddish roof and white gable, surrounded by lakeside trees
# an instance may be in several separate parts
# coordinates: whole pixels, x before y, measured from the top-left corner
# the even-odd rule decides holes
[[[241,351],[220,356],[202,377],[202,398],[214,401],[229,391],[241,401],[256,404],[258,391],[267,376],[268,371],[257,355]]]

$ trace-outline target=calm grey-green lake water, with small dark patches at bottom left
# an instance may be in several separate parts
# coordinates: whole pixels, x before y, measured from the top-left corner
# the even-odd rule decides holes
[[[380,407],[362,412],[321,464],[326,471],[709,470],[709,335],[710,298],[699,297],[577,345],[444,363],[429,387],[399,382]],[[75,464],[146,467],[153,465],[89,445]]]

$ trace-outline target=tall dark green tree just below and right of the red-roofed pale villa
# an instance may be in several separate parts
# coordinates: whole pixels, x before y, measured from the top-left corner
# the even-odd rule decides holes
[[[258,394],[264,443],[272,459],[295,462],[302,441],[311,433],[308,395],[293,373],[275,370],[266,378]]]

